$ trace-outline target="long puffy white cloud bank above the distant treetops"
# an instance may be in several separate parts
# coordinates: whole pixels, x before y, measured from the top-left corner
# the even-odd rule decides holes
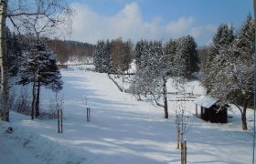
[[[194,17],[180,17],[161,25],[162,18],[155,17],[152,22],[143,19],[137,3],[126,4],[116,15],[106,16],[94,12],[88,5],[75,3],[72,7],[77,15],[73,20],[73,39],[95,44],[99,39],[113,39],[122,36],[133,42],[140,39],[169,39],[191,34],[200,36],[212,28],[193,27]]]

